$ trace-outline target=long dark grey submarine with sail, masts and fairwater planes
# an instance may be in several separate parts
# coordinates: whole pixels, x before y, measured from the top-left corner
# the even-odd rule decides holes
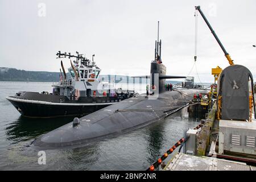
[[[187,106],[194,94],[207,93],[207,90],[202,89],[165,89],[166,79],[185,77],[166,75],[166,66],[161,59],[161,44],[162,40],[159,42],[158,38],[155,41],[155,59],[150,63],[150,76],[144,76],[150,77],[146,93],[127,98],[84,117],[74,118],[72,122],[35,139],[31,146],[40,150],[77,148],[116,137],[160,122]]]

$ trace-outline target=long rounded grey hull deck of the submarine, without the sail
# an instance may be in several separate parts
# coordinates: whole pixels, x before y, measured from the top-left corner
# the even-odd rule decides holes
[[[141,94],[110,105],[68,123],[36,139],[36,147],[69,148],[83,146],[98,140],[115,137],[160,121],[188,104],[194,93],[202,90],[179,90],[160,93],[157,98]]]

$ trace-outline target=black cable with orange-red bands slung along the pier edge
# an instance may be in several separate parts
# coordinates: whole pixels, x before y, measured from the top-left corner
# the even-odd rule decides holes
[[[200,129],[200,127],[202,127],[203,124],[198,125],[197,127],[194,128],[194,130],[198,130]],[[174,144],[174,146],[172,146],[169,150],[166,151],[166,153],[164,153],[164,155],[162,155],[162,157],[160,157],[158,160],[156,160],[155,163],[153,163],[149,168],[147,168],[146,171],[154,171],[156,167],[158,167],[164,159],[166,159],[168,157],[169,154],[172,154],[172,152],[178,147],[178,146],[183,146],[183,144],[185,143],[185,141],[188,139],[189,136],[187,137],[183,137],[181,138],[177,143]]]

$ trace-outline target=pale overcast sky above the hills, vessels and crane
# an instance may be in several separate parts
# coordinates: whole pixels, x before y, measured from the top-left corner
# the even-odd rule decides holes
[[[58,72],[57,51],[86,53],[102,74],[148,75],[160,21],[167,75],[185,75],[195,54],[195,6],[200,5],[235,64],[256,76],[256,1],[35,1],[0,0],[0,67]],[[46,10],[46,11],[44,11]],[[198,16],[197,71],[228,61]],[[65,68],[70,66],[63,59]],[[192,76],[199,81],[194,68]]]

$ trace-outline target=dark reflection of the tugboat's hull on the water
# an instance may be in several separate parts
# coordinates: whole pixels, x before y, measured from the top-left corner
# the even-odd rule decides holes
[[[28,118],[20,116],[6,127],[8,140],[14,143],[30,140],[73,120],[73,117]]]

